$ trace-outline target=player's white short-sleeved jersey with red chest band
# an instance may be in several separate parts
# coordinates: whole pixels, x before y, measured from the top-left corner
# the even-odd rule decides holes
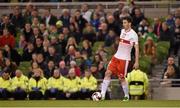
[[[135,44],[138,44],[136,32],[133,29],[128,32],[122,29],[118,50],[114,56],[121,60],[131,60],[131,50]]]

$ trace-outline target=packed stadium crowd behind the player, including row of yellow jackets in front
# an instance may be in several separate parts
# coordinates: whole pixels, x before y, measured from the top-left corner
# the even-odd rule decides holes
[[[74,13],[63,9],[61,15],[54,15],[49,8],[40,15],[31,4],[24,11],[14,7],[0,20],[0,98],[91,97],[98,90],[97,80],[104,78],[111,51],[118,47],[121,19],[127,16],[132,17],[133,28],[145,41],[143,54],[152,57],[154,64],[158,41],[170,42],[169,56],[178,56],[180,8],[168,14],[164,22],[154,18],[150,24],[134,5],[130,8],[119,4],[114,12],[106,12],[101,4],[94,10],[83,4]],[[98,42],[103,45],[95,48]],[[23,50],[21,54],[18,49]],[[24,61],[31,63],[27,76],[18,69]],[[170,77],[167,73],[165,76]],[[173,77],[178,78],[175,74]]]

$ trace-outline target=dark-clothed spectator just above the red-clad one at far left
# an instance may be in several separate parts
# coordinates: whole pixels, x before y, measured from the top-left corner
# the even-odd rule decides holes
[[[4,29],[8,29],[12,36],[16,36],[16,27],[10,22],[9,16],[4,15],[0,25],[0,35],[3,35]]]

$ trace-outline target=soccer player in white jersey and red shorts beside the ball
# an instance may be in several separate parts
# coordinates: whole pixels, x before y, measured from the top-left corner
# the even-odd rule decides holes
[[[121,31],[118,50],[111,58],[111,61],[109,62],[107,71],[105,73],[104,80],[102,82],[102,99],[105,99],[105,94],[111,80],[111,75],[115,74],[118,76],[125,94],[123,100],[129,100],[128,83],[125,80],[125,77],[127,74],[128,63],[131,60],[131,49],[133,46],[135,48],[135,63],[133,68],[139,68],[138,36],[136,32],[131,28],[132,20],[130,17],[124,17],[122,21],[124,29],[122,29]]]

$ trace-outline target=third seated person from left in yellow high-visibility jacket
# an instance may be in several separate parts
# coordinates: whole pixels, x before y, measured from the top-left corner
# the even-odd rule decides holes
[[[47,79],[43,77],[41,69],[35,69],[34,75],[29,79],[29,99],[41,100],[46,90]]]

